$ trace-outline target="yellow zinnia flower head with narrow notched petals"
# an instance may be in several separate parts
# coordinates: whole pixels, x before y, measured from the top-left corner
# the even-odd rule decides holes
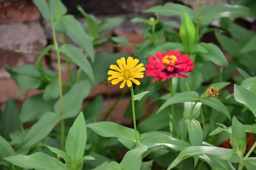
[[[140,82],[135,78],[143,78],[144,73],[142,71],[145,70],[145,67],[143,67],[143,64],[138,64],[138,59],[133,59],[132,57],[128,57],[127,63],[125,61],[125,57],[122,57],[121,59],[118,59],[117,65],[111,65],[109,68],[115,70],[108,71],[108,75],[111,75],[108,77],[108,80],[111,80],[111,83],[113,85],[116,85],[117,83],[122,82],[120,85],[120,88],[125,87],[125,82],[127,83],[128,87],[131,87],[131,81],[133,81],[136,85],[140,85]],[[136,66],[137,65],[137,66]],[[136,67],[135,67],[136,66]]]

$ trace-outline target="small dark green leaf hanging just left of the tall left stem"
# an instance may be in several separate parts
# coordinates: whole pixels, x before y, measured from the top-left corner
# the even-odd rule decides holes
[[[59,80],[58,77],[55,77],[52,79],[52,81],[46,86],[44,93],[43,93],[43,99],[46,101],[50,101],[52,99],[57,99],[59,93]]]

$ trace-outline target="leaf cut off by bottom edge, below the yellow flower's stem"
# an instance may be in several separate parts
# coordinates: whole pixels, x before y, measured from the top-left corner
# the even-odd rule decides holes
[[[145,145],[140,145],[136,149],[130,150],[125,154],[120,165],[123,170],[140,170],[142,154],[148,150]]]

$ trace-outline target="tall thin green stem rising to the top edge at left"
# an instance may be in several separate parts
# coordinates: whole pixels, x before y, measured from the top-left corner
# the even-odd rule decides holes
[[[58,4],[58,0],[57,0],[57,4]],[[51,6],[49,6],[49,8],[50,7]],[[55,51],[57,53],[60,105],[61,105],[61,114],[63,114],[63,94],[62,94],[62,78],[61,78],[61,56],[60,56],[60,53],[58,51],[58,42],[57,42],[57,39],[56,39],[55,26],[54,26],[54,22],[53,22],[53,17],[52,16],[51,16],[51,26],[52,26],[52,37],[53,37],[54,47],[55,47]],[[63,126],[64,126],[64,120],[61,120],[61,129],[64,128]],[[64,136],[64,132],[62,130],[61,130],[61,136]],[[64,147],[64,140],[61,138],[61,150],[63,150],[63,147]]]

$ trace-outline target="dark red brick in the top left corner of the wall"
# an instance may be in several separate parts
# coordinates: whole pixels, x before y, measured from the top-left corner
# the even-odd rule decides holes
[[[32,2],[0,3],[0,23],[29,22],[39,20],[40,11]]]

